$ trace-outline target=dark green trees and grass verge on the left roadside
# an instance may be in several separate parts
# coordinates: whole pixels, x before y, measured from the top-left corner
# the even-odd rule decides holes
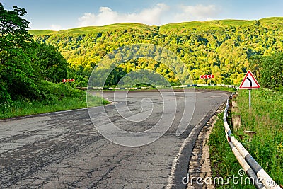
[[[86,108],[86,92],[62,84],[69,62],[57,47],[33,40],[24,8],[0,3],[0,119]],[[98,96],[93,106],[108,103]]]

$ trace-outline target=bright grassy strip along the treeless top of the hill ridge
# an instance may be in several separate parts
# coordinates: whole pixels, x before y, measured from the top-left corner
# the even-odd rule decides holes
[[[263,18],[259,20],[263,25],[270,24],[283,24],[282,17],[273,17],[273,18]],[[52,31],[52,30],[30,30],[30,34],[33,35],[58,35],[58,34],[78,34],[78,33],[98,33],[103,31],[110,30],[127,30],[127,29],[140,29],[140,30],[158,30],[161,33],[166,32],[167,30],[181,30],[192,29],[192,28],[203,28],[203,29],[216,29],[222,28],[225,26],[245,26],[245,25],[253,25],[256,21],[245,21],[245,20],[219,20],[219,21],[192,21],[192,22],[184,22],[184,23],[169,23],[166,25],[158,26],[149,26],[141,23],[115,23],[111,25],[105,26],[88,26],[82,28],[72,28],[69,30],[60,30],[60,31]]]

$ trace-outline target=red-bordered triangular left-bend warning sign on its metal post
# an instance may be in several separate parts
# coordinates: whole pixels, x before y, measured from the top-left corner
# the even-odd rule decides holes
[[[243,81],[241,82],[241,85],[239,86],[239,89],[248,89],[248,107],[251,110],[251,90],[260,88],[260,84],[258,84],[258,81],[253,76],[252,72],[248,70],[246,76],[243,78]]]

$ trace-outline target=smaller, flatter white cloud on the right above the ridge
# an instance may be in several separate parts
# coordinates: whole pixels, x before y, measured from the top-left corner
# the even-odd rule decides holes
[[[215,18],[221,8],[215,5],[179,6],[181,12],[175,14],[175,21],[207,21]]]

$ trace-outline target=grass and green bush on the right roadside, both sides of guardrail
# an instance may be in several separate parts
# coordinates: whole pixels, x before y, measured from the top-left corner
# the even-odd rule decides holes
[[[252,109],[248,108],[248,90],[238,91],[236,102],[241,127],[233,130],[239,142],[258,164],[279,183],[283,183],[283,54],[255,56],[249,60],[249,69],[258,79],[261,89],[252,90]],[[241,168],[226,142],[223,115],[219,115],[209,137],[213,176],[237,175]],[[230,125],[231,129],[233,128]],[[249,136],[247,132],[256,132]],[[244,186],[245,188],[248,186]],[[243,188],[243,185],[219,185],[217,188]]]

